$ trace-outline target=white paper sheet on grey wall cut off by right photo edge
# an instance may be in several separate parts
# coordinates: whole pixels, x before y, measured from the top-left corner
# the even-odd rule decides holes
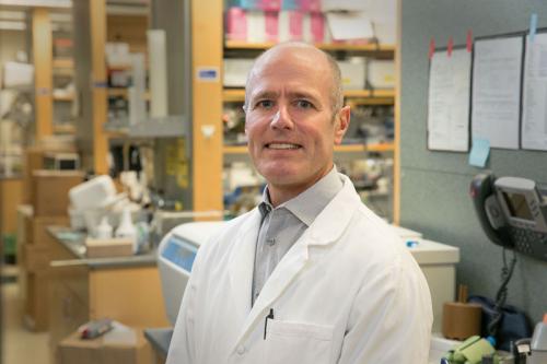
[[[522,113],[522,148],[547,151],[547,34],[526,40]]]

